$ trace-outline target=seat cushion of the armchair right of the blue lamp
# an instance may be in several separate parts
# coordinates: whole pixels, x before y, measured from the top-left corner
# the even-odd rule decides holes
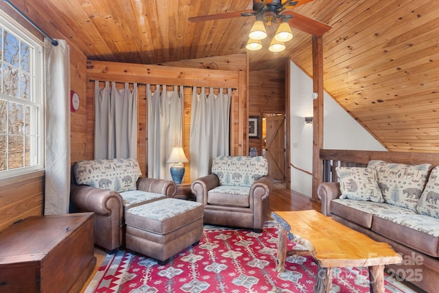
[[[250,207],[250,187],[222,185],[207,193],[207,203],[229,207]]]

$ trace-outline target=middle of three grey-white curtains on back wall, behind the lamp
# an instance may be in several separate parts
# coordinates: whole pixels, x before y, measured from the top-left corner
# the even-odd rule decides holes
[[[166,87],[156,84],[152,93],[151,85],[146,86],[147,176],[171,180],[167,159],[173,147],[182,146],[183,86],[174,86],[174,91]]]

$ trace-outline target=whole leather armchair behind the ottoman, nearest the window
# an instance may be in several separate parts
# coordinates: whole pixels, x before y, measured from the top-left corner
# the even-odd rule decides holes
[[[125,211],[172,198],[174,181],[141,177],[136,159],[78,161],[73,165],[71,212],[95,213],[95,244],[114,253],[125,237]]]

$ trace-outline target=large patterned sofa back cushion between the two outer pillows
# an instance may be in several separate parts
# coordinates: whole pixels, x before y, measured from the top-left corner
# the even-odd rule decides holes
[[[373,160],[368,167],[377,169],[378,186],[384,202],[416,211],[431,164],[405,165]]]

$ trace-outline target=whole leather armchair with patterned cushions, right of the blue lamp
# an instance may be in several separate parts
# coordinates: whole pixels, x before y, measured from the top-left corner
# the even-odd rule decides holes
[[[260,231],[268,218],[273,179],[262,156],[218,156],[211,174],[194,180],[191,189],[204,204],[204,223]]]

